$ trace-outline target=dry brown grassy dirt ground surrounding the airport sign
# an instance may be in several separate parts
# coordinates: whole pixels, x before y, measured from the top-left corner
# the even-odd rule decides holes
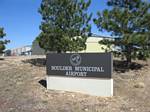
[[[114,71],[114,96],[102,98],[47,90],[46,68],[36,58],[0,60],[0,112],[150,112],[150,61],[138,62],[144,65],[138,70]]]

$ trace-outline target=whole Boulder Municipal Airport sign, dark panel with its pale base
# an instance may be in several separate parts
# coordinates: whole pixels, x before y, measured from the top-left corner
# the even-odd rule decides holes
[[[47,88],[112,96],[112,65],[111,53],[50,53]]]

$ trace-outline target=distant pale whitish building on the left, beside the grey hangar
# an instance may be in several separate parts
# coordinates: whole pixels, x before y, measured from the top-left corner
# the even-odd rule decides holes
[[[12,56],[31,55],[31,45],[12,49],[11,55]]]

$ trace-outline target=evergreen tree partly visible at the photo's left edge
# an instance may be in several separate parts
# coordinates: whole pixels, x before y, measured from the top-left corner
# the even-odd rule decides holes
[[[5,44],[9,42],[8,40],[3,39],[4,36],[6,36],[6,34],[4,33],[4,29],[0,28],[0,53],[3,53],[3,51],[5,50]]]

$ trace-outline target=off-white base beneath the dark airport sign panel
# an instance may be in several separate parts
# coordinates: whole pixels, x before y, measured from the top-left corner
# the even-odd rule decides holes
[[[83,79],[47,76],[47,89],[111,97],[113,96],[113,79]]]

